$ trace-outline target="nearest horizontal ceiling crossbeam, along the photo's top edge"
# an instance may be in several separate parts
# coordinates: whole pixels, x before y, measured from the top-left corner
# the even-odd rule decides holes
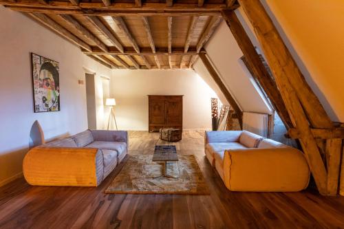
[[[73,0],[75,1],[75,0]],[[98,16],[182,16],[182,15],[208,15],[219,16],[220,10],[226,8],[226,3],[207,3],[202,7],[197,7],[195,3],[173,3],[173,6],[166,6],[164,2],[144,3],[142,6],[136,6],[136,3],[114,3],[105,6],[102,2],[85,1],[78,5],[68,1],[49,1],[49,4],[39,3],[39,1],[21,0],[8,1],[0,0],[0,5],[12,8],[12,10],[22,12],[41,12],[50,14],[84,14]],[[238,5],[235,4],[230,9],[235,10]]]

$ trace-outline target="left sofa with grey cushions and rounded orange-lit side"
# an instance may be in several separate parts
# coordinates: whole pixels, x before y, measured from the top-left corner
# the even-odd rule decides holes
[[[98,186],[127,151],[127,131],[87,130],[31,149],[23,174],[32,185]]]

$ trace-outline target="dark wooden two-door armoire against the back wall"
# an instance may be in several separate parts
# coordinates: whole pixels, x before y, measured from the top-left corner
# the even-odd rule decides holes
[[[183,129],[183,96],[148,96],[149,132]]]

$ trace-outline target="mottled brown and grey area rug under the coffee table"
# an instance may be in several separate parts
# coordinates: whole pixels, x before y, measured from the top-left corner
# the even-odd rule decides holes
[[[194,155],[178,155],[178,162],[152,162],[153,155],[130,155],[122,171],[105,193],[116,194],[186,194],[208,195],[208,186]]]

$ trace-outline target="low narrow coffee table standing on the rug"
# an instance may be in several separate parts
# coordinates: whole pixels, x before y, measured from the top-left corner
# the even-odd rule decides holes
[[[156,145],[153,154],[153,162],[164,162],[164,177],[176,178],[167,174],[167,163],[177,162],[178,154],[175,146],[170,145]],[[178,166],[178,163],[177,163]]]

